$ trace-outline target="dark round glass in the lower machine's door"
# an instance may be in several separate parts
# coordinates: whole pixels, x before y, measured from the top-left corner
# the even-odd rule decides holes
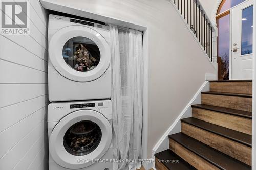
[[[100,127],[91,121],[81,121],[71,126],[65,133],[63,144],[72,155],[82,156],[93,152],[101,140]]]

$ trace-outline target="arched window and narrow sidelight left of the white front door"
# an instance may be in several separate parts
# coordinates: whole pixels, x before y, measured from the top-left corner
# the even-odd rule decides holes
[[[218,27],[217,54],[221,57],[221,74],[218,75],[220,80],[229,79],[229,40],[230,40],[230,9],[245,0],[223,0],[216,14]]]

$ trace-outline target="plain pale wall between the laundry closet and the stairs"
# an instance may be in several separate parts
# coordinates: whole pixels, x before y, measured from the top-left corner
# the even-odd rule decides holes
[[[167,0],[47,0],[148,28],[148,158],[214,67]],[[65,11],[62,11],[65,12]],[[73,14],[82,15],[81,12]],[[87,17],[87,16],[83,16]]]

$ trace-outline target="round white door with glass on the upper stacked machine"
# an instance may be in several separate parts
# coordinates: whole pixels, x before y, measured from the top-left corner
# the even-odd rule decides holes
[[[62,28],[49,43],[49,58],[54,68],[77,82],[101,77],[110,65],[110,56],[110,47],[104,37],[84,26]]]

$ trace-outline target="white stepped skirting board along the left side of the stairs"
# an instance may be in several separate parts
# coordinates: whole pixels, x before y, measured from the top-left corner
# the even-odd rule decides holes
[[[209,89],[210,89],[210,83],[208,81],[205,81],[202,84],[202,86],[199,88],[199,90],[196,92],[196,94],[193,96],[193,98],[189,101],[189,103],[184,108],[184,110],[177,117],[175,122],[168,128],[168,130],[163,134],[163,136],[160,138],[160,140],[154,146],[154,148],[152,150],[152,157],[154,159],[155,159],[155,156],[154,156],[155,153],[167,150],[169,148],[168,135],[181,132],[181,122],[180,122],[180,119],[192,116],[191,105],[193,105],[193,104],[200,104],[201,103],[201,92],[202,91],[209,91]]]

